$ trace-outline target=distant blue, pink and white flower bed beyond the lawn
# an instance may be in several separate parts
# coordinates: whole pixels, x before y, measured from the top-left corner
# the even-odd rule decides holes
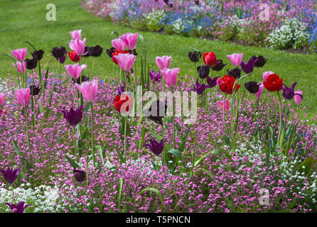
[[[82,7],[114,23],[149,31],[317,50],[316,0],[84,0]]]

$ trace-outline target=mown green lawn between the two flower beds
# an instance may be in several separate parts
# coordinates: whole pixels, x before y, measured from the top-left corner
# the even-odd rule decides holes
[[[48,12],[45,8],[50,3],[56,6],[56,21],[46,21],[45,19]],[[110,41],[114,38],[114,35],[111,35],[112,31],[117,31],[120,35],[136,32],[134,29],[117,26],[102,18],[90,16],[80,7],[80,0],[1,0],[0,28],[0,53],[9,53],[13,49],[25,46],[31,50],[29,45],[23,43],[24,40],[28,40],[36,48],[45,51],[42,64],[50,60],[50,50],[53,46],[63,45],[68,48],[69,31],[74,29],[82,29],[82,37],[87,38],[87,45],[101,45],[104,49],[111,47]],[[265,48],[233,45],[221,41],[186,38],[179,35],[162,35],[144,31],[139,31],[139,33],[146,39],[151,67],[154,67],[155,56],[172,55],[171,67],[180,67],[181,74],[195,73],[193,63],[188,59],[190,46],[202,52],[212,50],[218,58],[228,63],[229,60],[225,56],[233,52],[244,52],[245,61],[252,55],[264,55],[268,57],[268,61],[261,70],[271,70],[279,74],[287,85],[297,81],[296,89],[303,90],[303,105],[308,107],[306,111],[309,116],[316,114],[317,55],[293,54]],[[31,55],[28,57],[30,58]],[[65,64],[70,63],[70,60],[65,62]],[[8,72],[16,74],[16,70],[11,64],[9,57],[0,56],[0,77],[6,77]],[[90,67],[90,60],[87,64]],[[57,69],[55,60],[50,64],[50,68]],[[227,68],[231,69],[232,65]],[[95,72],[101,78],[113,76],[112,61],[105,52],[96,61]]]

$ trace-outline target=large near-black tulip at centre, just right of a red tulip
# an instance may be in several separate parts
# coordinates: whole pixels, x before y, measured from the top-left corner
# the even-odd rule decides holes
[[[163,124],[162,118],[166,115],[166,110],[167,102],[156,100],[144,111],[144,115],[156,123]]]

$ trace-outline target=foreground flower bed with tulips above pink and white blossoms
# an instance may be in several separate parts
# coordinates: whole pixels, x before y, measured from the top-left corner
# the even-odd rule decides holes
[[[296,83],[262,70],[267,59],[233,54],[227,65],[196,51],[195,75],[169,69],[168,56],[150,70],[143,37],[127,33],[107,50],[115,78],[104,81],[82,64],[102,48],[70,35],[71,52],[51,51],[54,72],[40,68],[41,50],[9,55],[18,76],[0,82],[1,212],[316,212],[317,128]],[[79,63],[64,66],[67,56]],[[170,93],[149,98],[159,92]],[[191,97],[189,115],[172,94]]]

